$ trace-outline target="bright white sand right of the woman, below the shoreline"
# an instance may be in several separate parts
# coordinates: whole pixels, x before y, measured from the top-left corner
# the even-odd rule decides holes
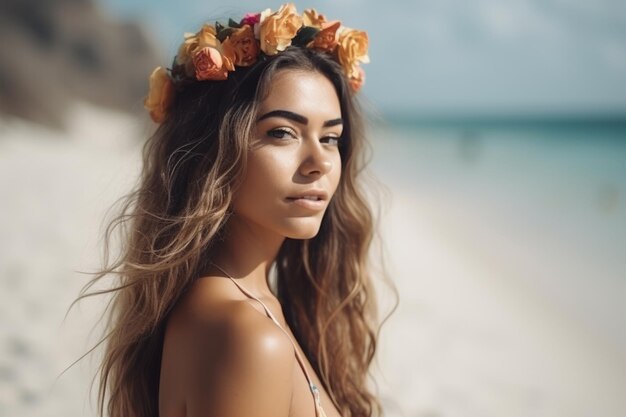
[[[387,223],[401,304],[381,368],[399,415],[624,415],[624,352],[486,253],[477,231],[396,196]]]

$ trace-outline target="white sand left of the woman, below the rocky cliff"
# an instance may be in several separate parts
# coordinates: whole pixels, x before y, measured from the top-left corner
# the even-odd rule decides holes
[[[77,106],[67,133],[0,125],[0,415],[89,416],[88,361],[78,358],[102,300],[64,314],[99,253],[106,208],[138,168],[136,122]]]

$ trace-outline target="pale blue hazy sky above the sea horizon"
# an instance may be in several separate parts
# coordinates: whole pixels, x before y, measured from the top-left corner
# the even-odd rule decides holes
[[[98,0],[141,21],[168,64],[205,21],[281,2]],[[624,0],[311,0],[368,32],[363,94],[383,112],[626,114]]]

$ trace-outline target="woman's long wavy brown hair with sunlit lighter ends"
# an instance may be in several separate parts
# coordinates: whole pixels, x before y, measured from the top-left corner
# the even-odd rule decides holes
[[[382,412],[368,377],[379,323],[369,268],[375,218],[361,181],[369,158],[363,120],[340,66],[323,53],[290,47],[225,81],[178,86],[168,119],[145,143],[139,183],[106,227],[104,267],[78,298],[110,296],[101,340],[101,416],[105,409],[111,417],[158,415],[168,315],[212,260],[246,172],[258,105],[283,70],[326,76],[339,97],[344,130],[339,186],[319,233],[283,243],[276,296],[341,414]],[[111,260],[115,231],[120,247]],[[114,284],[95,289],[106,277]]]

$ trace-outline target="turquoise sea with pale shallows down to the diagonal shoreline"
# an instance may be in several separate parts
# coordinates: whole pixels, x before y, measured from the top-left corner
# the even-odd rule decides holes
[[[392,193],[484,231],[485,252],[626,351],[626,121],[391,119],[372,133]]]

